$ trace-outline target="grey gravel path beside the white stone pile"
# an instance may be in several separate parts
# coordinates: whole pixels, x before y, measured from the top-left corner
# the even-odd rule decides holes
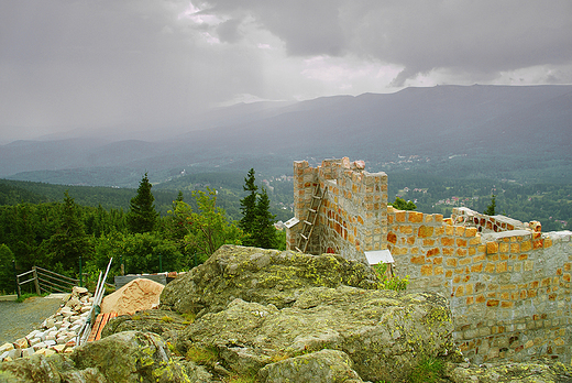
[[[61,298],[31,297],[22,303],[0,300],[0,346],[25,337],[55,314]]]

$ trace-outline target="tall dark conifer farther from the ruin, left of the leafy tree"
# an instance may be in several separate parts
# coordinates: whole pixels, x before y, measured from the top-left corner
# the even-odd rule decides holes
[[[150,232],[155,229],[158,214],[155,211],[155,205],[153,205],[155,197],[151,193],[151,187],[147,173],[145,173],[139,184],[138,195],[131,198],[128,228],[132,233]]]

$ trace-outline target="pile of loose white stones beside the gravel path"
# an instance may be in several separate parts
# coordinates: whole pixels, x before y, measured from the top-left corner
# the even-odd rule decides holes
[[[44,320],[42,327],[12,343],[0,346],[0,361],[30,357],[68,353],[76,347],[76,338],[86,324],[94,297],[84,287],[74,287],[65,305]]]

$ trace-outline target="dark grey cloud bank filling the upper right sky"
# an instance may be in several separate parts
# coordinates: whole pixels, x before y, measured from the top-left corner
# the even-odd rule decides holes
[[[394,84],[430,70],[487,78],[501,70],[572,62],[572,2],[213,0],[250,12],[290,55],[356,54],[403,65]]]

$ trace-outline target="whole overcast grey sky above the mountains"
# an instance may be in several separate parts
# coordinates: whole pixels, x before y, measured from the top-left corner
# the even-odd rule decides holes
[[[572,84],[572,1],[0,0],[0,140],[475,83]]]

